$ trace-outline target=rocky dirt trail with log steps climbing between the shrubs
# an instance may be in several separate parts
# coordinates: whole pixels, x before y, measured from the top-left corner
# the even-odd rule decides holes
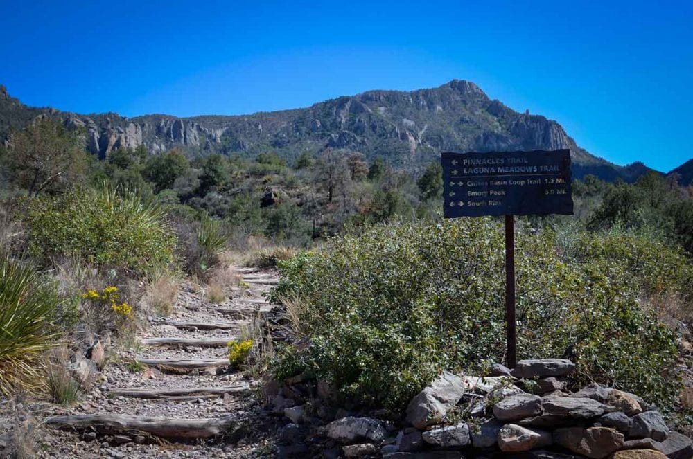
[[[44,417],[41,458],[248,458],[271,453],[254,381],[229,371],[227,343],[272,305],[277,273],[232,267],[249,288],[213,305],[184,284],[173,312],[150,318],[75,408]],[[243,294],[241,294],[243,293]],[[129,372],[137,360],[147,368]],[[249,438],[256,438],[255,444]],[[257,440],[259,438],[259,440]]]

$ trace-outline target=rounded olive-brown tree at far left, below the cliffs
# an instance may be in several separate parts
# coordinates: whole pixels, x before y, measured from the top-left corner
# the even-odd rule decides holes
[[[24,131],[12,132],[10,179],[30,196],[59,192],[84,179],[88,157],[83,145],[80,132],[68,131],[58,121],[38,118]]]

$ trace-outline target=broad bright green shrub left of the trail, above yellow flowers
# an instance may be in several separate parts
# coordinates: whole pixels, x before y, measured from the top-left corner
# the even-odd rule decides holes
[[[175,236],[164,213],[134,195],[85,188],[27,204],[29,250],[45,264],[76,256],[148,276],[174,262]]]

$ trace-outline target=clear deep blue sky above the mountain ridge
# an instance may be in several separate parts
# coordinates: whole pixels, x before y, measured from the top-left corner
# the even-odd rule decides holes
[[[0,0],[0,17],[0,84],[29,105],[245,114],[458,78],[609,161],[693,157],[693,1]]]

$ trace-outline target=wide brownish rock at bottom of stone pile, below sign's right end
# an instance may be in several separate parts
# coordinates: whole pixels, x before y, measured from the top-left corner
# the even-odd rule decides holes
[[[573,453],[601,459],[621,449],[624,437],[611,427],[567,427],[554,431],[554,443]]]

